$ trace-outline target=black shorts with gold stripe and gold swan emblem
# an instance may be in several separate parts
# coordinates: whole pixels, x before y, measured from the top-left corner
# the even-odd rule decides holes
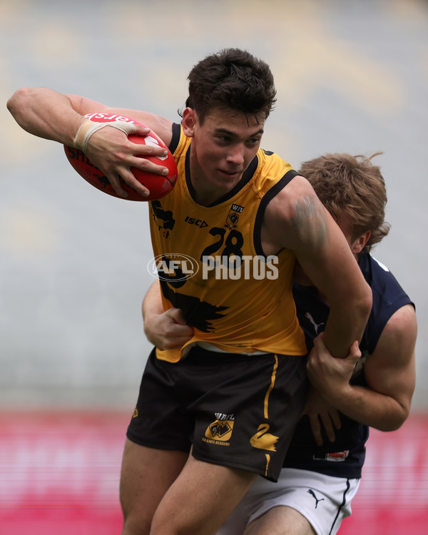
[[[148,357],[127,437],[277,481],[307,394],[305,357],[193,347],[180,362]]]

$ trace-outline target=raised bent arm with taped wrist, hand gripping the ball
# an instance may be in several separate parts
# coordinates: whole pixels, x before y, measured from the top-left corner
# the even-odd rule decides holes
[[[90,98],[58,93],[48,88],[21,88],[9,98],[7,107],[19,126],[27,132],[66,146],[73,146],[76,133],[86,121],[84,116],[87,113],[103,111],[128,116],[143,123],[157,133],[167,146],[172,136],[171,122],[153,113],[108,108]],[[148,128],[136,125],[135,133],[146,136]],[[116,128],[102,128],[93,133],[86,154],[93,165],[107,176],[116,193],[122,196],[126,192],[121,188],[119,176],[141,195],[148,195],[147,188],[136,180],[131,167],[158,175],[168,173],[163,165],[138,158],[138,155],[165,156],[165,149],[131,143],[126,134]]]

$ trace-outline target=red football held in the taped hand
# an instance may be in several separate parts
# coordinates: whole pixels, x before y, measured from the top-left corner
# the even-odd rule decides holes
[[[86,115],[88,119],[91,119],[91,121],[94,121],[96,123],[111,123],[113,121],[126,121],[128,123],[133,124],[141,124],[138,121],[134,121],[133,119],[130,119],[128,117],[124,116],[118,116],[114,115],[112,113],[88,113]],[[165,146],[165,143],[156,136],[156,133],[153,131],[150,131],[147,136],[135,136],[131,134],[128,136],[129,141],[132,141],[132,143],[140,143],[141,145],[158,145],[163,148],[167,148]],[[136,192],[131,186],[126,184],[121,179],[121,186],[126,192],[128,193],[128,197],[121,197],[116,193],[115,190],[113,190],[113,186],[108,181],[108,178],[101,173],[101,170],[96,168],[93,163],[89,160],[89,158],[82,152],[79,151],[77,148],[64,146],[64,150],[66,151],[66,157],[68,158],[68,161],[71,163],[73,168],[78,172],[79,175],[81,175],[88,183],[95,186],[95,188],[98,188],[98,190],[103,191],[104,193],[108,193],[108,195],[113,195],[113,197],[118,197],[120,199],[126,199],[126,200],[155,200],[160,199],[164,197],[167,193],[170,192],[170,190],[173,189],[175,185],[175,181],[177,180],[177,165],[175,164],[175,160],[173,158],[173,155],[168,150],[168,156],[163,156],[161,158],[158,158],[158,156],[142,156],[142,158],[146,158],[147,160],[157,163],[158,165],[163,165],[164,167],[167,167],[169,169],[168,175],[162,176],[162,175],[156,175],[155,173],[148,173],[147,171],[142,171],[136,168],[131,168],[134,176],[138,180],[138,182],[141,182],[143,185],[146,186],[146,188],[150,191],[150,195],[148,197],[143,197],[143,195],[140,195]]]

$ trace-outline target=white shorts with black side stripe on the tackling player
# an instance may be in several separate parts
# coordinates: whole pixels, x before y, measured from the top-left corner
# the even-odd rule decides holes
[[[317,535],[335,535],[351,514],[360,479],[325,476],[310,470],[283,468],[277,483],[258,477],[216,535],[239,535],[259,516],[288,506],[310,522]]]

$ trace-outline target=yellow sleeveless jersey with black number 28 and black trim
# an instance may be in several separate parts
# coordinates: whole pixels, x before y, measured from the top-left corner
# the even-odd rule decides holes
[[[233,190],[201,206],[193,200],[190,147],[191,138],[174,124],[170,149],[178,180],[150,203],[150,224],[151,268],[158,272],[163,307],[183,310],[193,338],[181,350],[157,350],[158,358],[178,362],[198,341],[234,353],[305,355],[292,298],[295,256],[281,250],[267,257],[260,239],[267,203],[297,173],[260,149]]]

